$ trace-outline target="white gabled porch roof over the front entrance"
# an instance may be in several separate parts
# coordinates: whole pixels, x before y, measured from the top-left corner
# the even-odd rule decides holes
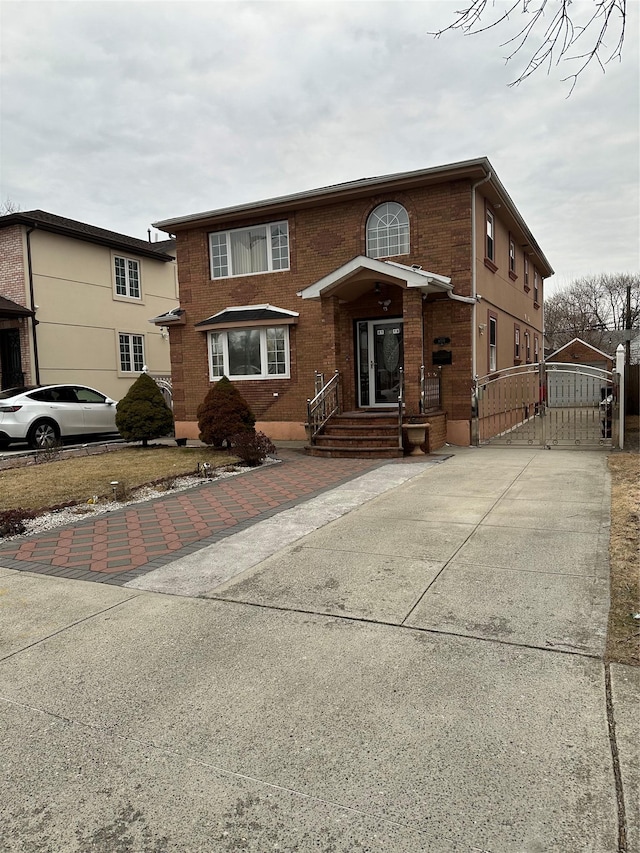
[[[369,291],[372,281],[394,284],[405,289],[415,287],[425,295],[453,290],[451,279],[447,276],[428,272],[417,265],[406,266],[395,261],[378,261],[358,255],[315,284],[298,291],[298,296],[302,299],[339,296],[340,299],[351,302]]]

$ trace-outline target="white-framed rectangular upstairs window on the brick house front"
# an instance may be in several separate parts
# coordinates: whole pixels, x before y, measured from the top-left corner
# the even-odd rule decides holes
[[[209,235],[211,277],[289,269],[289,226],[286,222],[252,225]]]

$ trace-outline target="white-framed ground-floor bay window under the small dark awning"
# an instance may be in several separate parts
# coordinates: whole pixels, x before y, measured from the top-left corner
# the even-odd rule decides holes
[[[209,332],[209,376],[219,379],[288,379],[289,329],[258,326]]]

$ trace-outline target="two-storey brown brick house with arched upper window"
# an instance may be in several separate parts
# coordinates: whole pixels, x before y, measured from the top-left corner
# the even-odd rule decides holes
[[[541,357],[553,270],[486,158],[155,225],[176,238],[177,436],[222,375],[272,438],[305,437],[316,373],[338,371],[342,412],[397,422],[402,368],[431,448],[468,445],[473,377]]]

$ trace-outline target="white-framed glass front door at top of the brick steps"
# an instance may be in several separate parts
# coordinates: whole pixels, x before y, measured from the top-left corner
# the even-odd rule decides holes
[[[358,404],[365,408],[398,405],[403,366],[402,317],[359,320]]]

